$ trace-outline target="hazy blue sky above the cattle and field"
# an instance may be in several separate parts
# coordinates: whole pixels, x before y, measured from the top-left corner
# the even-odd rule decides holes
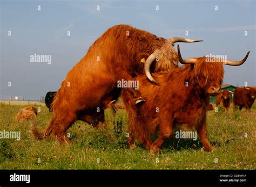
[[[256,85],[255,1],[1,0],[0,8],[0,95],[37,97],[58,90],[90,45],[117,24],[129,24],[158,37],[204,40],[180,43],[183,57],[212,53],[241,60],[251,51],[242,66],[225,66],[224,84]],[[51,64],[31,63],[30,55],[35,53],[51,55]]]

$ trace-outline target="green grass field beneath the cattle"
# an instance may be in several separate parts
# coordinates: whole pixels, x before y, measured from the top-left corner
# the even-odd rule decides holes
[[[252,111],[233,113],[231,108],[228,113],[207,112],[213,153],[203,152],[199,139],[172,136],[164,143],[160,155],[149,155],[138,144],[134,149],[126,147],[125,110],[119,110],[115,119],[106,110],[107,126],[98,130],[76,121],[67,132],[71,140],[67,146],[51,138],[43,141],[29,138],[30,122],[19,124],[15,120],[22,107],[0,104],[0,131],[21,132],[19,141],[0,139],[0,169],[256,169],[255,104]],[[51,113],[46,106],[37,107],[41,107],[41,112],[31,122],[42,130],[48,125]],[[122,126],[114,125],[121,119]]]

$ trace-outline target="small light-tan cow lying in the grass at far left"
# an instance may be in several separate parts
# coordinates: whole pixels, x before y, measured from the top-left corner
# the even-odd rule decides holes
[[[35,119],[36,117],[37,117],[37,109],[33,105],[30,105],[28,107],[21,109],[16,115],[16,119],[19,122],[22,122],[28,119]]]

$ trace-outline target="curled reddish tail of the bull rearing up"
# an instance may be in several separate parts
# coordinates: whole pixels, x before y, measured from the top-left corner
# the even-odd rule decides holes
[[[37,140],[42,140],[42,139],[48,138],[51,135],[52,126],[53,126],[53,123],[55,121],[53,118],[55,118],[55,117],[52,116],[50,124],[43,131],[38,131],[37,127],[36,127],[36,124],[31,124],[30,134],[32,134],[32,137],[37,139]]]

